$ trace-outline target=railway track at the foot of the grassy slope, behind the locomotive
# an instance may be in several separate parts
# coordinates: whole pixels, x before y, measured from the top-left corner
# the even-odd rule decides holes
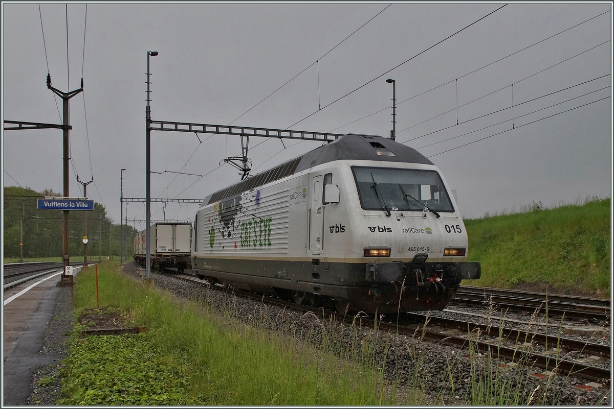
[[[547,312],[548,315],[565,315],[568,318],[581,318],[588,321],[610,320],[612,316],[610,300],[545,295],[497,288],[461,286],[452,302],[478,306],[492,304],[500,309],[526,312],[541,310],[543,313]]]

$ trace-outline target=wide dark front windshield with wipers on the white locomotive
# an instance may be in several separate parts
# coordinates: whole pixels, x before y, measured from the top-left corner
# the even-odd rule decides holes
[[[365,210],[454,211],[437,171],[352,167],[352,172]]]

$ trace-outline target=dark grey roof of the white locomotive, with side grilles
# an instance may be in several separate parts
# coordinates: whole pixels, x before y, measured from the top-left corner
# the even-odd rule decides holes
[[[201,204],[213,203],[238,193],[254,189],[268,182],[285,178],[293,173],[313,168],[335,160],[378,160],[379,162],[421,163],[433,165],[426,156],[416,149],[377,135],[348,133],[331,143],[309,151],[303,156],[282,163],[278,167],[251,176],[241,182],[218,190],[206,197]]]

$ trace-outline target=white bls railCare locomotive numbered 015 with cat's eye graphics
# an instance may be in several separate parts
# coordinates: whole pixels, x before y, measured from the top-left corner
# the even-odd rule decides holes
[[[201,279],[340,311],[443,309],[467,233],[438,168],[395,141],[348,134],[209,195],[196,212]]]

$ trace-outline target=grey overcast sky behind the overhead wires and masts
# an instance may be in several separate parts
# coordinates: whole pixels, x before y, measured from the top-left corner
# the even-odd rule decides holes
[[[121,168],[124,196],[145,197],[148,50],[160,53],[150,58],[155,121],[389,137],[385,80],[394,78],[397,141],[440,168],[465,217],[611,197],[609,2],[510,3],[422,53],[503,4],[90,3],[86,19],[85,3],[69,3],[67,58],[64,4],[42,3],[39,13],[36,3],[4,2],[2,116],[59,124],[62,102],[45,86],[48,70],[64,92],[83,77],[84,92],[70,100],[70,193],[82,194],[76,173],[93,176],[88,196],[116,222]],[[4,131],[4,186],[63,192],[61,135]],[[219,167],[241,153],[239,137],[210,136],[152,132],[152,171],[208,173],[153,173],[152,197],[204,198],[240,179],[231,165]],[[320,144],[284,143],[252,138],[252,174]],[[197,207],[168,204],[166,218],[193,219]],[[143,203],[127,212],[145,218]],[[152,203],[152,219],[162,217]]]

